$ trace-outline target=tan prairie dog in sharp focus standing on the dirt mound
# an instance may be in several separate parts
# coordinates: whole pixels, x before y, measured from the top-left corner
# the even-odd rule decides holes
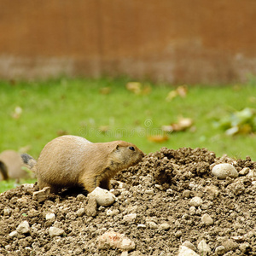
[[[39,189],[50,187],[57,192],[80,185],[91,192],[96,187],[109,189],[110,179],[137,165],[143,155],[132,143],[90,143],[84,137],[67,135],[47,143],[37,162],[28,154],[22,158],[37,173]]]

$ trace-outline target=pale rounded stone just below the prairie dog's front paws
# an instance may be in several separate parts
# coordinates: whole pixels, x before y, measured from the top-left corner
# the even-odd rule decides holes
[[[90,192],[90,194],[88,194],[88,197],[94,197],[97,204],[102,207],[111,206],[116,200],[115,195],[113,195],[107,189],[101,189],[99,187]]]

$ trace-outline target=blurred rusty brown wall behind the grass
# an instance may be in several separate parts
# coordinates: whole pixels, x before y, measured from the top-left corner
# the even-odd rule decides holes
[[[0,78],[256,74],[255,0],[0,0]]]

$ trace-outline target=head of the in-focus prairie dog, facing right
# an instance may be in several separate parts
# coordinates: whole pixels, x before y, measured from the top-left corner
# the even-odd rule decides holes
[[[120,166],[121,169],[137,165],[143,159],[144,153],[132,143],[123,141],[113,142],[113,149],[109,160],[111,166]]]

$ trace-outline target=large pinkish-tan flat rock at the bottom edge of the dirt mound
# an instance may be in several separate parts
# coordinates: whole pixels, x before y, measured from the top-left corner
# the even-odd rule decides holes
[[[124,234],[109,231],[104,233],[102,236],[97,237],[97,247],[99,249],[112,247],[118,248],[122,251],[131,251],[135,248],[135,243],[125,237]]]

